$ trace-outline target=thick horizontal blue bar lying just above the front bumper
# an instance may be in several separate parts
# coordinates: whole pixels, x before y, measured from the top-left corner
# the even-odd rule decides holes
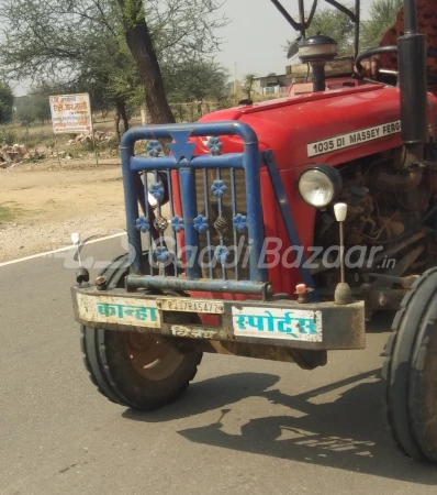
[[[222,279],[201,279],[192,280],[179,277],[149,277],[128,275],[126,278],[128,290],[137,290],[139,288],[158,289],[158,290],[195,290],[212,293],[231,293],[247,294],[253,296],[262,296],[268,298],[271,295],[271,284],[268,282],[249,282],[249,280],[222,280]]]

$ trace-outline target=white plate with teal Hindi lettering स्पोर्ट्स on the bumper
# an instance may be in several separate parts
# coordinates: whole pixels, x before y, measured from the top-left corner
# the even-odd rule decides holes
[[[234,334],[259,339],[322,342],[322,311],[268,307],[233,307]]]

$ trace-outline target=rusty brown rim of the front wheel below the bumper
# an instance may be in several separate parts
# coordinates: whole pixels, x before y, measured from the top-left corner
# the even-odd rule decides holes
[[[126,349],[136,372],[154,382],[170,376],[183,360],[177,349],[152,333],[128,333]]]

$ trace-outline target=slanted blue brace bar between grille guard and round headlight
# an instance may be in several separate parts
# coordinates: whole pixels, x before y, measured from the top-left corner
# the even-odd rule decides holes
[[[267,170],[269,173],[269,177],[271,184],[273,186],[274,196],[278,201],[278,206],[281,212],[282,221],[285,226],[287,234],[289,237],[291,245],[301,246],[301,240],[299,237],[298,229],[295,227],[295,222],[293,219],[293,213],[289,207],[289,201],[287,199],[285,189],[283,188],[282,179],[278,170],[278,166],[274,160],[274,154],[271,150],[268,150],[264,153],[264,160],[267,165]],[[304,256],[305,257],[305,256]],[[306,261],[306,260],[304,260]],[[301,274],[302,280],[307,287],[315,289],[313,276],[311,274],[310,268],[306,267],[305,263],[301,263],[299,265],[299,272]],[[318,300],[318,297],[315,290],[312,293],[313,300]]]

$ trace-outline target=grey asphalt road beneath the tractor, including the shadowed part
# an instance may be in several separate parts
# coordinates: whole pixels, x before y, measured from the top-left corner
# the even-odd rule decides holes
[[[120,240],[88,248],[109,258]],[[287,363],[205,355],[178,403],[138,414],[89,382],[63,257],[0,267],[0,494],[433,494],[437,469],[400,454],[380,353]]]

